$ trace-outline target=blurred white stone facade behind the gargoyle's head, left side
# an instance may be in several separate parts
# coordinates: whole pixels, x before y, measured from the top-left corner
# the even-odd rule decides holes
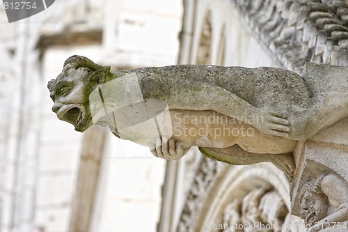
[[[58,121],[47,82],[74,54],[114,70],[177,63],[181,8],[60,0],[8,24],[0,6],[1,232],[156,230],[164,160],[104,128],[81,134]]]

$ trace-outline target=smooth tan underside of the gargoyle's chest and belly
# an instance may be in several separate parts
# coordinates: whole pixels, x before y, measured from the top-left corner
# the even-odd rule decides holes
[[[122,113],[125,111],[123,110]],[[252,153],[292,153],[297,142],[284,137],[262,134],[251,125],[215,111],[171,109],[153,115],[148,120],[143,118],[142,121],[127,113],[120,116],[124,118],[118,118],[118,122],[129,124],[118,128],[118,136],[148,147],[155,146],[154,142],[159,137],[159,133],[161,137],[181,141],[187,148],[191,146],[228,148],[237,144]],[[255,118],[247,118],[246,121],[248,120],[255,120]],[[262,123],[262,118],[256,120]],[[109,127],[112,132],[115,130],[115,127],[110,125]]]

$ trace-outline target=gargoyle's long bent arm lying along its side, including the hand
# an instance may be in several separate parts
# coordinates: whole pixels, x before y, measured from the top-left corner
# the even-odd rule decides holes
[[[287,137],[290,132],[285,116],[254,107],[215,84],[180,80],[170,90],[168,105],[172,109],[213,110],[273,136]]]

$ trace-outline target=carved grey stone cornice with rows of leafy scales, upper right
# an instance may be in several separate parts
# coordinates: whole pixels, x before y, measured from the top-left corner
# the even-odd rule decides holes
[[[345,1],[231,0],[249,31],[285,68],[304,63],[348,65]]]

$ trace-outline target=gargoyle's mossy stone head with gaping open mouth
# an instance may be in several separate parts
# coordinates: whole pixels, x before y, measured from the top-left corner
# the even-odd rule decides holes
[[[61,74],[47,85],[54,101],[52,111],[75,130],[84,132],[93,125],[88,97],[108,75],[110,66],[97,65],[84,56],[70,56]]]

